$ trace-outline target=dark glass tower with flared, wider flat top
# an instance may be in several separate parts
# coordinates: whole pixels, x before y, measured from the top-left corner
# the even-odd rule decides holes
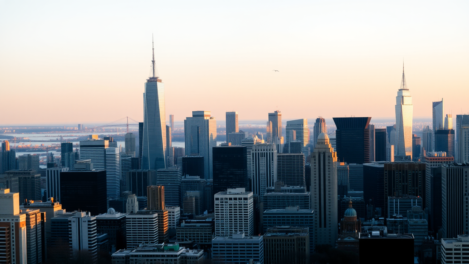
[[[370,162],[371,117],[333,117],[337,156],[340,162],[363,164]]]

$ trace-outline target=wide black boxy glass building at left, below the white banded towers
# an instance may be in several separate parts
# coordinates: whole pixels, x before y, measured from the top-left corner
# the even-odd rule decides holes
[[[106,171],[61,171],[62,209],[88,211],[91,215],[107,211]]]

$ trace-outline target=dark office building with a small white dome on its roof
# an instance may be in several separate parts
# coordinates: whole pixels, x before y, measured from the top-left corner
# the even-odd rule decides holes
[[[126,216],[127,214],[116,212],[113,208],[96,216],[96,232],[108,235],[109,247],[113,248],[111,252],[126,248]]]

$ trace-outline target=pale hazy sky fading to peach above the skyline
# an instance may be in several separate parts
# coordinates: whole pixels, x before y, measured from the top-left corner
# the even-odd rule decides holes
[[[0,125],[143,121],[151,34],[166,114],[469,112],[469,1],[0,1]],[[279,72],[272,70],[279,70]],[[310,120],[310,122],[313,122]]]

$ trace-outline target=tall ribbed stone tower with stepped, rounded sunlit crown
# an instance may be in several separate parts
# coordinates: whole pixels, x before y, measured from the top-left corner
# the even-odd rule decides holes
[[[337,152],[326,133],[318,136],[311,155],[311,209],[315,211],[314,243],[335,246],[337,240]]]

